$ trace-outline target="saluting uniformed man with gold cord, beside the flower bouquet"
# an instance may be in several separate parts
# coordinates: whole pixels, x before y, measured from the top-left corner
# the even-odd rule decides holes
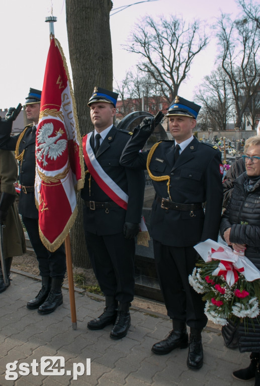
[[[220,151],[192,135],[199,110],[200,106],[177,96],[166,114],[175,140],[161,141],[150,152],[139,152],[154,126],[154,119],[145,118],[120,160],[132,168],[145,169],[147,164],[156,192],[151,235],[160,288],[173,330],[154,344],[152,351],[167,354],[189,346],[187,365],[193,369],[203,365],[201,332],[207,323],[201,295],[188,280],[197,259],[193,246],[208,238],[217,240],[223,196]]]

